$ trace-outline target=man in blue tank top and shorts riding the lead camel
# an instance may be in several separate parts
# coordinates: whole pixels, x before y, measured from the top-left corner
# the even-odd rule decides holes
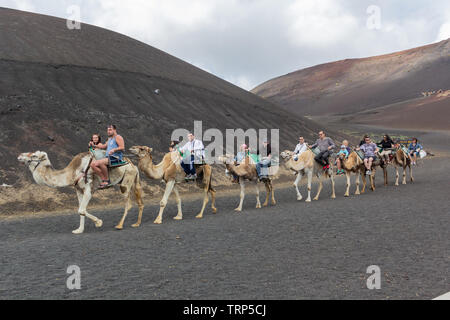
[[[108,177],[108,165],[122,161],[125,150],[125,141],[117,134],[117,127],[114,124],[108,126],[108,141],[105,144],[98,143],[96,148],[106,149],[106,158],[93,160],[91,163],[92,170],[102,179],[99,188],[105,189],[111,184]]]

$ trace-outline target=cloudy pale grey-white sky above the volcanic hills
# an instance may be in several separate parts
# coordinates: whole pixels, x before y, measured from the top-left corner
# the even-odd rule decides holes
[[[450,38],[448,0],[0,0],[126,34],[246,90]],[[82,27],[82,26],[81,26]]]

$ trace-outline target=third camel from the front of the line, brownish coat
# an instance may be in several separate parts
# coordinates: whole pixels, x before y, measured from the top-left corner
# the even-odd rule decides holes
[[[239,177],[239,184],[241,186],[241,194],[240,194],[240,202],[239,206],[234,209],[237,212],[242,212],[242,205],[244,203],[245,198],[245,181],[250,181],[255,183],[255,190],[256,190],[256,208],[261,208],[261,201],[259,199],[259,178],[258,173],[256,171],[256,165],[255,163],[251,163],[250,157],[247,156],[243,163],[236,165],[234,163],[234,156],[233,155],[225,155],[218,158],[219,161],[223,162],[225,164],[225,167],[227,170],[235,174]],[[269,205],[269,197],[272,196],[272,205],[276,205],[275,201],[275,191],[273,189],[272,180],[271,179],[264,179],[262,181],[266,187],[266,201],[264,202],[263,206],[267,207]]]

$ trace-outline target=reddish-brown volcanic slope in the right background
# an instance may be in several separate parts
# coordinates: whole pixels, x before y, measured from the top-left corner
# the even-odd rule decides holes
[[[299,115],[351,114],[450,89],[450,40],[296,71],[252,90]]]

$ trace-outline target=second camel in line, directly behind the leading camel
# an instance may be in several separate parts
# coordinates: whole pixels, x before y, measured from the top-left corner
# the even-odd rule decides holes
[[[155,224],[162,224],[163,212],[167,206],[170,194],[172,191],[175,193],[178,214],[174,218],[175,220],[183,219],[183,212],[181,210],[181,198],[177,188],[177,184],[184,182],[185,173],[181,167],[181,156],[178,152],[167,153],[161,163],[153,164],[153,149],[146,146],[134,146],[131,147],[130,152],[138,157],[138,168],[145,173],[145,175],[152,180],[162,180],[166,183],[166,189],[164,196],[160,202],[159,214]],[[216,203],[216,190],[211,185],[212,181],[212,168],[210,165],[205,164],[197,169],[197,186],[204,191],[203,206],[200,213],[196,216],[197,219],[203,218],[206,205],[209,202],[208,194],[211,194],[211,208],[213,213],[217,213]]]

